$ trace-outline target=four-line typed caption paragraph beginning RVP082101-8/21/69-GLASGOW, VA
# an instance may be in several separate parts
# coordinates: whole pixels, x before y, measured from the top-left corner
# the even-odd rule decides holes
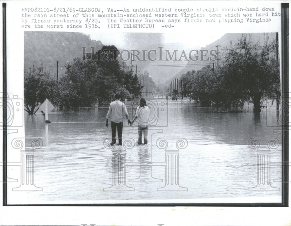
[[[236,7],[22,7],[21,28],[31,29],[173,29],[198,24],[267,24],[281,17],[272,4]]]

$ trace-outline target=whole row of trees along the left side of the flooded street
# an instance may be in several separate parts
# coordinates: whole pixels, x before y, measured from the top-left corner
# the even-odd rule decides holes
[[[43,65],[24,71],[25,110],[35,113],[36,107],[46,98],[55,106],[76,108],[110,102],[116,92],[123,97],[138,95],[143,84],[131,71],[122,69],[118,54],[118,49],[109,45],[103,46],[95,56],[75,58],[59,80]],[[105,57],[106,60],[95,60]]]

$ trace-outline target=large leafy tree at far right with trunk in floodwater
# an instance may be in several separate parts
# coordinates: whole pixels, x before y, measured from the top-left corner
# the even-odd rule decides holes
[[[242,35],[237,44],[228,49],[221,68],[223,89],[232,102],[254,104],[254,112],[261,111],[261,101],[268,94],[280,93],[280,70],[276,60],[276,45],[265,37],[264,45],[254,43]]]

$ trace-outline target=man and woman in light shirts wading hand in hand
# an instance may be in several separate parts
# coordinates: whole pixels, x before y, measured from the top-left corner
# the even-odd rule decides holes
[[[128,119],[128,124],[133,125],[134,121],[138,123],[139,139],[138,144],[148,144],[148,125],[150,120],[150,108],[148,108],[144,98],[141,98],[139,106],[136,108],[135,117],[132,122],[129,119],[129,115],[126,106],[120,101],[121,95],[116,93],[115,101],[109,105],[109,110],[106,116],[106,127],[109,126],[108,120],[111,119],[111,130],[112,130],[112,143],[116,144],[116,128],[118,134],[118,145],[122,145],[122,130],[123,130],[123,112]],[[142,135],[144,143],[142,143]]]

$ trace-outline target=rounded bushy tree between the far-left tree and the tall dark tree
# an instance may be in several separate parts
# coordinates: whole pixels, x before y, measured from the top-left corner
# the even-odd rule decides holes
[[[61,80],[64,106],[92,106],[98,99],[109,100],[114,87],[118,87],[115,76],[95,61],[75,58],[66,74]]]

